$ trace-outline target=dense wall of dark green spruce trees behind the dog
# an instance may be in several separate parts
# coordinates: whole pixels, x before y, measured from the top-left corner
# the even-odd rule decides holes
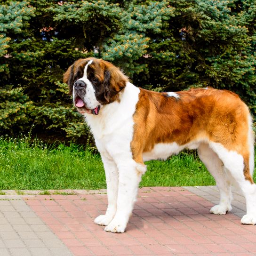
[[[62,76],[101,57],[137,86],[238,93],[256,116],[255,0],[0,0],[0,133],[79,139]]]

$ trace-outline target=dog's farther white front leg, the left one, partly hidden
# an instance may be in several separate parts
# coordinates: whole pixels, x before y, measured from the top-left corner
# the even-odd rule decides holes
[[[105,215],[96,217],[94,223],[106,226],[112,221],[117,210],[118,168],[109,155],[101,153],[101,158],[106,175],[108,208]]]

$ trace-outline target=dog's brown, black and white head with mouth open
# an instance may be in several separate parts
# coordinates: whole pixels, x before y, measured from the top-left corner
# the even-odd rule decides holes
[[[102,59],[79,59],[64,73],[64,83],[80,113],[98,115],[100,108],[119,99],[128,78]]]

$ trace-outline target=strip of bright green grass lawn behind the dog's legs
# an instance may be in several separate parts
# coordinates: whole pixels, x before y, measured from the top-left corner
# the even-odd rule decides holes
[[[0,137],[0,190],[105,188],[99,154],[71,144],[47,147],[28,138]],[[140,186],[214,185],[195,153],[181,152],[167,161],[149,161]],[[256,174],[255,174],[256,176]]]

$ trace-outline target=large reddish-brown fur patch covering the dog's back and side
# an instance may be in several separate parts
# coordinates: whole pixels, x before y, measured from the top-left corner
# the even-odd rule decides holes
[[[177,92],[180,98],[140,89],[134,114],[133,158],[143,163],[143,152],[155,144],[211,141],[243,156],[244,176],[249,171],[249,111],[239,96],[226,90],[191,89]]]

